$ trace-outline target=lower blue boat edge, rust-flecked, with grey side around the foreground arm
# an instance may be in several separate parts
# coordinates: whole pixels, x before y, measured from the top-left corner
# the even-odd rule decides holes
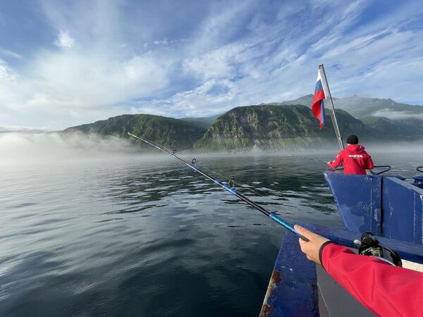
[[[360,232],[303,225],[319,235],[346,247],[356,248],[353,240]],[[423,247],[378,237],[381,244],[395,249],[401,258],[423,263]],[[340,314],[341,312],[341,314]],[[322,268],[307,260],[298,237],[287,232],[271,274],[260,316],[374,316],[338,285]]]

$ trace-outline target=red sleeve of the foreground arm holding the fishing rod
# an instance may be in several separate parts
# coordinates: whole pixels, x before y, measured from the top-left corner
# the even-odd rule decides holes
[[[327,244],[321,251],[326,271],[378,316],[423,316],[423,273],[391,266],[347,247]]]

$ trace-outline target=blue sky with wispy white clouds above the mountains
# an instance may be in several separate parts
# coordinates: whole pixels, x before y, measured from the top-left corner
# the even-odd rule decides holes
[[[0,0],[0,126],[199,117],[312,94],[423,104],[421,1]]]

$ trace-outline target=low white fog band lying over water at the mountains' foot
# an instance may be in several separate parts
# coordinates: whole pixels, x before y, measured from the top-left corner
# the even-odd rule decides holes
[[[377,156],[388,156],[396,153],[417,154],[423,157],[423,142],[363,142],[367,151]],[[185,156],[228,156],[228,155],[281,155],[281,154],[309,154],[312,156],[328,156],[331,158],[338,153],[339,148],[335,140],[322,144],[319,149],[297,149],[295,151],[267,151],[245,153],[196,153],[195,151],[181,151]],[[80,132],[2,132],[0,133],[0,161],[8,163],[44,163],[48,161],[74,161],[79,159],[111,159],[118,156],[132,156],[133,154],[148,154],[161,157],[159,151],[134,147],[129,139],[96,134],[82,134]],[[422,162],[423,163],[423,162]]]

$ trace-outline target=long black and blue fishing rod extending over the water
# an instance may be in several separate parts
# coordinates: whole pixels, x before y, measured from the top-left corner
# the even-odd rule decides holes
[[[190,164],[187,161],[184,161],[183,159],[180,159],[179,156],[176,156],[175,155],[176,151],[173,151],[173,152],[168,151],[167,149],[164,149],[164,147],[161,147],[159,144],[154,144],[153,142],[150,142],[149,140],[147,140],[147,139],[145,139],[143,137],[137,137],[137,135],[133,135],[130,132],[128,132],[128,135],[130,135],[131,137],[135,137],[135,139],[140,139],[142,142],[145,142],[145,143],[151,145],[152,147],[155,147],[156,149],[159,149],[160,151],[164,151],[166,154],[169,154],[170,156],[173,156],[175,159],[177,159],[181,163],[185,164],[186,166],[188,166],[192,170],[195,170],[196,172],[198,172],[201,175],[203,175],[205,178],[208,178],[209,180],[212,180],[212,182],[214,182],[216,185],[219,185],[224,190],[230,192],[231,194],[233,194],[234,196],[238,197],[242,201],[245,201],[247,204],[249,204],[250,206],[254,207],[258,211],[264,213],[266,216],[270,217],[272,220],[275,220],[276,223],[278,223],[279,225],[283,225],[283,227],[285,227],[286,229],[290,230],[291,232],[294,232],[295,235],[298,235],[298,237],[300,237],[302,240],[304,240],[306,242],[309,242],[309,240],[306,237],[304,237],[303,235],[300,235],[300,233],[298,233],[297,231],[295,231],[295,229],[293,228],[292,225],[290,225],[289,223],[287,223],[283,219],[279,218],[274,213],[271,213],[270,211],[267,211],[262,206],[259,206],[254,201],[248,199],[243,194],[241,194],[240,192],[237,192],[235,189],[229,187],[228,185],[224,184],[220,180],[216,180],[216,179],[212,178],[212,176],[208,175],[207,173],[204,173],[202,170],[199,170],[197,168],[197,166],[193,165],[195,163],[195,159],[193,159],[192,160],[192,164]]]

